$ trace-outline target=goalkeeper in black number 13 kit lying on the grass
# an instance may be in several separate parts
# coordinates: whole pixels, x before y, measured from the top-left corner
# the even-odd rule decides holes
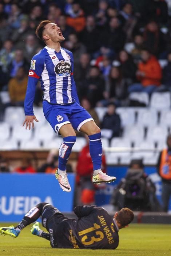
[[[77,206],[74,212],[78,219],[68,219],[52,205],[40,203],[16,227],[0,227],[0,233],[17,237],[24,227],[41,216],[42,225],[49,233],[41,230],[38,222],[32,225],[31,233],[49,240],[52,248],[115,249],[119,244],[119,229],[134,219],[129,208],[122,208],[113,218],[98,206]]]

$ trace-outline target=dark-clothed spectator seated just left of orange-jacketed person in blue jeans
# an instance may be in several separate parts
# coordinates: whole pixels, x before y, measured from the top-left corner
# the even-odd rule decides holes
[[[104,100],[98,102],[98,106],[107,106],[113,102],[116,106],[125,106],[127,104],[128,83],[122,76],[119,67],[112,67],[109,74],[108,85],[104,91]]]

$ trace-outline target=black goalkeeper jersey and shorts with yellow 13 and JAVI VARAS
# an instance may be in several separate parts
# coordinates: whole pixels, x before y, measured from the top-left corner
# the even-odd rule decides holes
[[[53,245],[58,248],[115,249],[118,226],[108,212],[98,206],[77,206],[78,219],[65,219],[55,229]]]

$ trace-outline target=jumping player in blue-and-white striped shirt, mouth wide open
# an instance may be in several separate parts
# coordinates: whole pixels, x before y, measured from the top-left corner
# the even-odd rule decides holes
[[[90,114],[80,106],[73,79],[73,54],[61,48],[64,41],[60,27],[49,20],[44,20],[36,29],[36,35],[46,46],[31,60],[27,92],[24,102],[25,120],[23,126],[34,128],[33,101],[37,81],[43,90],[43,112],[57,135],[63,137],[59,148],[59,166],[55,176],[64,191],[71,191],[66,174],[66,164],[76,141],[77,131],[84,132],[90,140],[90,155],[93,162],[93,183],[115,181],[100,169],[102,163],[102,142],[100,128]]]

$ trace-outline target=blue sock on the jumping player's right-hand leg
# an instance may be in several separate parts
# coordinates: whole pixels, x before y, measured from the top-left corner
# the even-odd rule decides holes
[[[90,140],[90,155],[93,162],[93,170],[98,170],[102,164],[101,132],[88,136]]]

